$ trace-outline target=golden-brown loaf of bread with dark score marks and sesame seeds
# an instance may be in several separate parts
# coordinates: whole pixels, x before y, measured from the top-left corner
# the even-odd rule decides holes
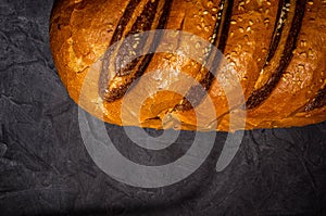
[[[158,29],[191,34],[216,47],[239,80],[243,100],[230,105],[231,90],[227,96],[225,84],[202,62],[155,52],[168,39],[137,42],[135,37],[131,47],[153,51],[127,64],[124,53],[129,48],[108,54],[110,46],[124,38]],[[50,40],[70,97],[111,124],[228,131],[326,120],[325,0],[58,0]],[[198,46],[179,40],[189,50]],[[166,68],[178,73],[160,75]],[[89,73],[95,75],[88,80]],[[197,85],[188,86],[185,94],[171,90],[173,85],[185,86],[185,75]],[[128,94],[136,101],[134,96],[158,86],[164,88],[148,93],[138,110],[123,107]],[[197,87],[206,93],[198,93]],[[208,100],[213,119],[208,117],[211,111],[196,110]],[[124,109],[137,112],[136,117],[125,119]],[[244,113],[244,122],[230,120],[235,113]]]

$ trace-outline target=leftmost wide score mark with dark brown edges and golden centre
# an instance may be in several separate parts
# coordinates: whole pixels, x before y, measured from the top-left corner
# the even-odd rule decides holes
[[[143,4],[142,8],[141,4]],[[133,81],[143,74],[153,54],[141,54],[149,50],[154,51],[161,36],[149,38],[146,35],[140,39],[138,33],[164,28],[171,4],[172,1],[167,0],[131,0],[129,2],[110,45],[130,36],[129,40],[118,45],[113,53],[106,51],[104,54],[99,79],[99,94],[103,100],[112,102],[121,99]],[[135,16],[133,13],[137,12],[136,18],[133,18]],[[129,61],[133,55],[141,56]]]

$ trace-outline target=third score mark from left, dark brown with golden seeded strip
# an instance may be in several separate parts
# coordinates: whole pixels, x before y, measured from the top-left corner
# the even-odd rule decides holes
[[[293,56],[293,50],[297,47],[298,37],[301,30],[302,20],[305,11],[305,3],[306,0],[297,0],[296,2],[290,1],[290,3],[287,3],[287,1],[284,2],[283,10],[286,9],[285,13],[288,11],[287,8],[289,8],[291,4],[294,4],[293,15],[287,15],[288,20],[290,20],[290,27],[287,29],[286,34],[283,33],[285,31],[284,29],[281,30],[283,34],[280,34],[279,39],[278,37],[273,37],[273,39],[279,40],[279,42],[277,42],[278,46],[275,46],[276,48],[273,48],[274,46],[271,47],[272,49],[274,49],[273,58],[271,58],[269,62],[266,62],[261,72],[261,76],[259,77],[259,80],[256,82],[256,86],[260,85],[261,87],[255,88],[246,102],[246,107],[248,110],[258,107],[271,96],[272,91],[279,82],[285,69],[288,67]],[[280,15],[279,18],[281,20],[283,16]],[[281,22],[280,20],[277,21],[276,25]],[[278,27],[276,27],[276,34],[277,29]],[[274,41],[272,41],[272,45]],[[269,58],[267,58],[267,60]],[[264,78],[268,75],[264,71],[269,71],[271,73],[271,76],[267,80],[264,80]]]

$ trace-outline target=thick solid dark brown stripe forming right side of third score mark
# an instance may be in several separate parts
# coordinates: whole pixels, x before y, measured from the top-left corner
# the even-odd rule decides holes
[[[294,14],[291,20],[291,26],[288,31],[288,34],[283,34],[281,37],[287,37],[284,46],[284,51],[279,58],[279,61],[277,63],[277,66],[275,71],[272,73],[268,80],[264,84],[264,86],[260,87],[259,89],[255,89],[251,92],[249,96],[246,107],[247,109],[254,109],[261,105],[272,93],[272,91],[275,89],[277,84],[279,82],[285,69],[288,67],[292,56],[293,56],[293,50],[297,47],[297,40],[298,36],[301,29],[302,20],[304,16],[305,11],[305,3],[306,0],[297,0],[296,1],[296,9]],[[286,5],[284,5],[286,7]],[[274,37],[275,38],[275,37]],[[281,39],[279,39],[281,40]],[[271,60],[273,61],[273,59]],[[267,64],[269,64],[267,62]],[[263,75],[264,76],[264,75]]]

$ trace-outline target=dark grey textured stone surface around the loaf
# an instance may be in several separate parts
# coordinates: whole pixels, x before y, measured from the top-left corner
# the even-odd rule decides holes
[[[77,105],[49,49],[52,0],[0,0],[0,215],[326,215],[326,123],[247,131],[231,164],[214,171],[226,134],[208,161],[174,186],[139,189],[102,173],[88,155]],[[106,129],[145,164],[183,155],[193,132],[162,154]],[[147,130],[156,136],[158,131]]]

